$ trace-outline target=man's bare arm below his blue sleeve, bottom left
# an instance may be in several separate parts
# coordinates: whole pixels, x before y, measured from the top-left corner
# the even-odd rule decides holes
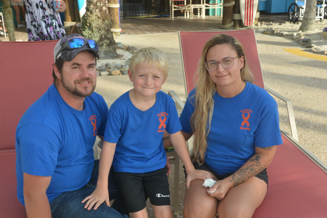
[[[49,199],[46,196],[51,177],[24,173],[24,201],[28,217],[51,217]]]

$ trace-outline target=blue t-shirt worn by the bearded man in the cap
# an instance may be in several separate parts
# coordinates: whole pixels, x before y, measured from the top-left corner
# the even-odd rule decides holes
[[[93,145],[103,135],[108,106],[101,95],[92,93],[84,109],[75,110],[50,86],[21,117],[16,130],[17,195],[25,205],[23,172],[52,176],[46,190],[49,202],[60,193],[77,190],[90,179]]]

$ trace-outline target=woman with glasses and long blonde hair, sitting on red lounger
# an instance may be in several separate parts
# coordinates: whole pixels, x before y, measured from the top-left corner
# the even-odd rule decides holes
[[[211,188],[193,180],[184,217],[251,217],[268,187],[266,167],[282,144],[276,102],[251,84],[242,44],[220,34],[204,45],[198,82],[180,116],[187,140],[194,135],[193,164],[212,173]]]

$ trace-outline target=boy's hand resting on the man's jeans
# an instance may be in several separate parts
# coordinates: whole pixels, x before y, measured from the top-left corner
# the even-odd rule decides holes
[[[100,188],[97,187],[90,196],[83,199],[82,204],[85,202],[86,204],[84,205],[84,208],[87,210],[92,209],[93,206],[96,210],[103,202],[105,202],[106,205],[110,207],[108,189],[104,188],[100,190]]]

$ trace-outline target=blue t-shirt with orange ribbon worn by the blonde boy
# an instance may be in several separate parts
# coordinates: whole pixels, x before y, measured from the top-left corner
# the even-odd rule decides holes
[[[137,109],[125,92],[110,107],[104,140],[116,143],[115,172],[147,173],[163,168],[167,158],[162,144],[164,131],[181,130],[174,100],[159,91],[154,105]]]

